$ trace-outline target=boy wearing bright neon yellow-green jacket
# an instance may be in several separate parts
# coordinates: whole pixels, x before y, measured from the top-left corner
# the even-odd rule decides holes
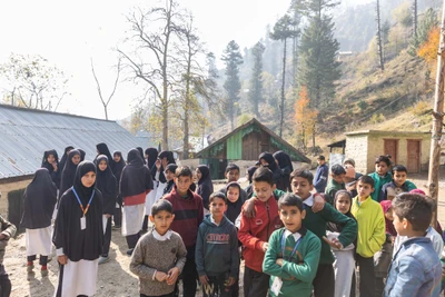
[[[382,206],[370,197],[373,191],[374,179],[362,176],[357,181],[358,195],[350,207],[358,225],[356,263],[360,273],[360,297],[374,296],[374,254],[382,249],[386,240],[385,216]]]

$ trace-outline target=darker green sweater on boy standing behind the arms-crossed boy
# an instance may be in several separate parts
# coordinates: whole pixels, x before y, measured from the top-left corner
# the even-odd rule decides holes
[[[334,222],[343,227],[338,240],[344,247],[350,245],[357,237],[357,222],[339,212],[332,205],[325,204],[325,207],[318,211],[314,212],[312,207],[305,205],[306,217],[303,220],[303,226],[314,232],[322,240],[322,256],[320,264],[333,264],[334,256],[330,251],[330,246],[323,240],[326,236],[326,224]]]

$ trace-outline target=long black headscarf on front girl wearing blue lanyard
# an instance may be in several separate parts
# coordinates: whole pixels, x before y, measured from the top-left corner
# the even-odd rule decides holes
[[[72,186],[83,209],[92,197],[85,215],[86,228],[81,229],[80,218],[83,217],[83,212],[72,188],[60,198],[57,212],[52,242],[57,249],[62,248],[63,254],[71,261],[96,260],[102,254],[102,195],[95,189],[95,185],[87,188],[81,181],[82,177],[91,171],[96,172],[96,166],[91,161],[80,162]]]

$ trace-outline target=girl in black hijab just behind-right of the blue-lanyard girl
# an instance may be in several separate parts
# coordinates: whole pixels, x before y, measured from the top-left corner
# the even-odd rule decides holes
[[[108,158],[105,155],[99,155],[96,159],[97,178],[96,188],[102,194],[102,210],[103,210],[103,250],[102,256],[99,258],[99,264],[110,260],[108,253],[111,244],[111,216],[115,214],[116,208],[116,178],[112,175],[110,166],[108,166]]]

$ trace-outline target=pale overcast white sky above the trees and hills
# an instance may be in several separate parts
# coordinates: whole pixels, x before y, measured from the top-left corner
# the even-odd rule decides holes
[[[364,0],[366,1],[366,0]],[[91,75],[90,58],[108,95],[113,80],[111,48],[121,42],[128,24],[125,16],[138,4],[155,0],[13,0],[0,3],[0,62],[11,52],[41,55],[70,76],[69,91],[58,111],[105,118]],[[217,58],[230,40],[240,48],[251,47],[265,34],[268,23],[283,16],[290,0],[180,0],[192,11],[201,39]],[[138,95],[122,83],[109,107],[110,119],[131,111]]]

